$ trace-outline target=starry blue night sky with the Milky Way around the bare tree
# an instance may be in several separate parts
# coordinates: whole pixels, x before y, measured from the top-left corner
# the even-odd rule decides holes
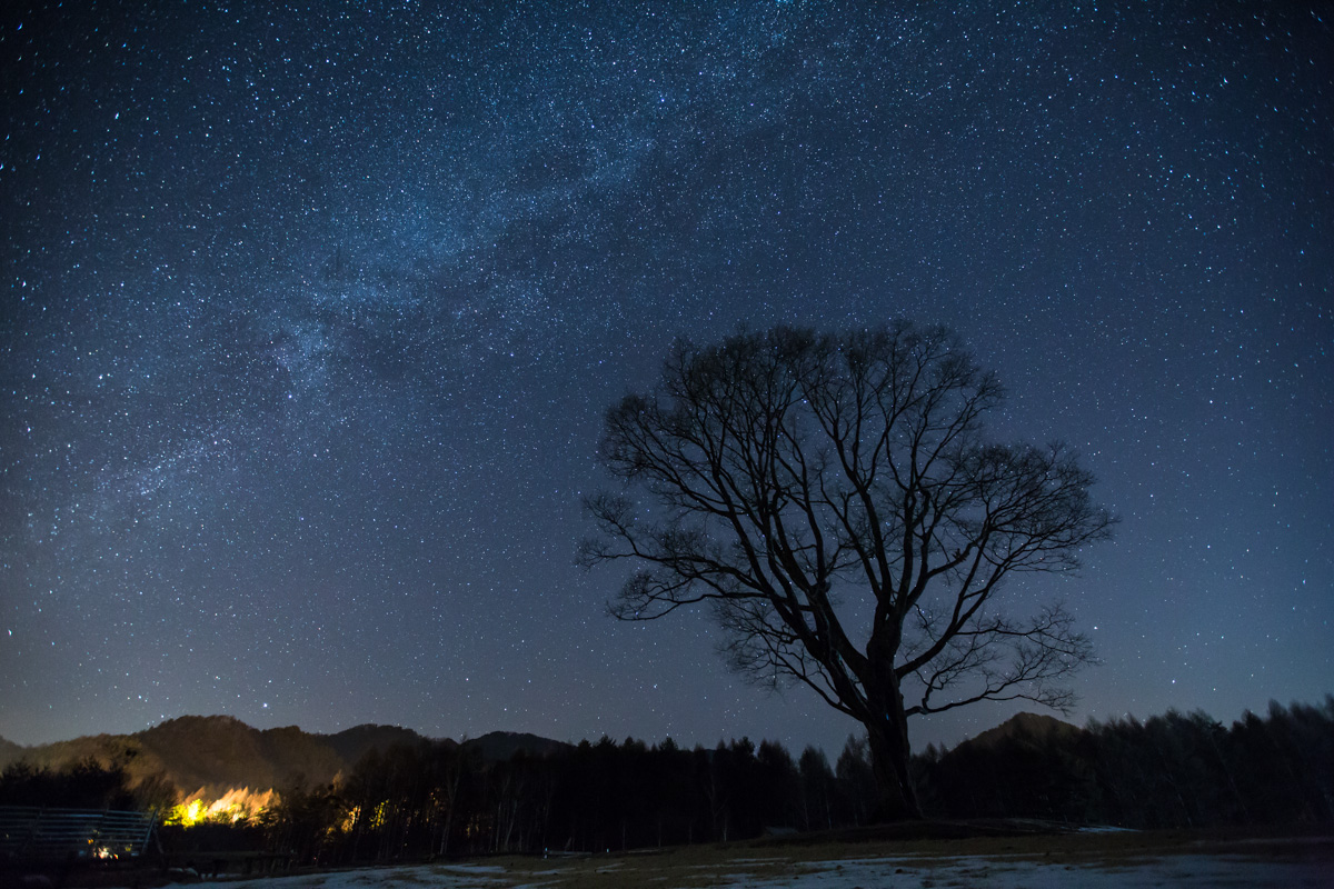
[[[707,613],[606,614],[580,497],[674,339],[900,316],[1122,517],[1009,593],[1093,636],[1074,721],[1334,690],[1323,4],[49,5],[0,13],[0,736],[836,754]]]

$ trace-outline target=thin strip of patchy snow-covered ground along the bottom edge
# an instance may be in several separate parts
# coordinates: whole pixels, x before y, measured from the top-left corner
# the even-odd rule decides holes
[[[1087,862],[1029,857],[892,856],[827,861],[735,858],[718,864],[660,866],[651,857],[603,862],[532,861],[519,865],[420,865],[265,880],[228,881],[227,889],[566,889],[586,882],[660,889],[1205,889],[1334,886],[1330,861],[1258,858],[1243,854],[1165,854]],[[200,884],[189,884],[199,886]]]

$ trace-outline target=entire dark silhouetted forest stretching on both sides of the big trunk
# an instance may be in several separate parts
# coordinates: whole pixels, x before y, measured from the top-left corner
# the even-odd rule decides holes
[[[928,816],[1025,817],[1125,828],[1334,824],[1334,697],[1271,704],[1227,728],[1169,712],[1079,729],[1021,714],[948,752],[914,757]],[[119,784],[117,784],[119,782]],[[80,794],[79,788],[84,788]],[[151,790],[151,792],[145,792]],[[281,801],[231,842],[297,861],[386,861],[491,852],[602,852],[726,841],[764,830],[864,824],[874,806],[866,742],[831,765],[807,748],[742,738],[714,749],[670,740],[584,741],[544,756],[487,760],[452,742],[370,750],[342,781],[280,788]],[[147,806],[161,788],[84,761],[11,765],[0,804]],[[191,842],[201,828],[167,830]],[[213,825],[209,845],[228,842]],[[197,837],[201,834],[196,834]]]

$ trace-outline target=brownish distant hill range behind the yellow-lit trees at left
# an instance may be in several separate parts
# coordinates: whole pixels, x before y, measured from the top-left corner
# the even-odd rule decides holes
[[[181,716],[133,734],[95,734],[31,748],[0,738],[0,768],[27,761],[60,769],[95,757],[103,764],[123,762],[136,784],[163,774],[183,794],[203,790],[203,796],[217,798],[233,788],[281,790],[297,778],[307,786],[329,784],[350,773],[368,750],[430,741],[398,725],[366,724],[316,734],[295,725],[256,729],[231,716]],[[439,742],[455,745],[448,738]],[[456,746],[487,761],[508,760],[520,750],[548,756],[570,748],[515,732],[491,732]]]

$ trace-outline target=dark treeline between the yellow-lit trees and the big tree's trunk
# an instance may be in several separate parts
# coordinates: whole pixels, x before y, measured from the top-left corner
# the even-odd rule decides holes
[[[807,748],[747,738],[587,741],[484,761],[448,744],[366,754],[340,785],[280,792],[260,816],[275,850],[320,862],[498,852],[606,852],[826,829],[870,814],[864,744],[836,768]]]

